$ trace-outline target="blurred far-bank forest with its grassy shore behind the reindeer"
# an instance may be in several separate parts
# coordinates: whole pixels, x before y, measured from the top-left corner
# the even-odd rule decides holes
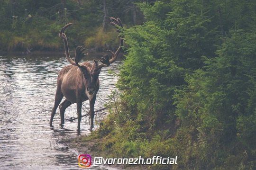
[[[119,42],[110,17],[122,18],[127,27],[142,24],[143,14],[135,5],[142,1],[0,0],[0,51],[63,51],[58,34],[70,22],[71,49],[78,45],[93,51],[115,48]]]

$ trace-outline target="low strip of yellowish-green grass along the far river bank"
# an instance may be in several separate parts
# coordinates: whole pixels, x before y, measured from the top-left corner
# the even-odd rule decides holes
[[[27,51],[27,48],[52,52],[64,51],[63,41],[59,37],[59,31],[62,27],[64,25],[52,23],[45,28],[29,29],[22,35],[13,31],[3,30],[0,32],[0,51]],[[80,36],[81,34],[79,35],[75,31],[79,26],[73,24],[72,27],[66,31],[71,51],[80,45],[90,52],[104,52],[107,49],[113,50],[118,47],[118,34],[116,34],[114,28],[103,32],[101,27],[97,27],[91,34]]]

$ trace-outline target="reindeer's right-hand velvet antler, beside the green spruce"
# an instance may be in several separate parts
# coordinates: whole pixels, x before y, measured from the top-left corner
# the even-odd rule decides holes
[[[116,18],[111,17],[110,19],[111,19],[111,22],[110,22],[111,25],[118,27],[118,28],[120,28],[120,27],[123,28],[123,24],[122,24],[122,21],[120,18],[116,19]],[[122,32],[122,30],[120,30],[120,29],[117,29],[116,31],[119,33]],[[100,60],[100,62],[102,64],[100,64],[97,67],[97,70],[101,69],[102,67],[109,66],[111,63],[114,63],[117,60],[117,57],[121,53],[123,46],[124,46],[123,36],[118,36],[118,37],[119,37],[119,48],[117,49],[117,51],[115,53],[113,53],[111,50],[107,50],[107,52],[109,52],[111,54],[112,58],[110,59],[110,56],[108,54],[104,54]]]

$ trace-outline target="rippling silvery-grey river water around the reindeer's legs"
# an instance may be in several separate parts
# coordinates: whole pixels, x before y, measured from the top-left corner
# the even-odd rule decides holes
[[[87,59],[92,61],[92,58],[99,56],[89,55]],[[107,95],[115,89],[117,77],[107,70],[116,71],[120,63],[116,61],[101,69],[95,110],[103,107]],[[76,153],[59,144],[62,139],[79,135],[77,122],[65,121],[61,128],[57,109],[54,129],[49,126],[58,72],[67,64],[64,54],[0,54],[0,170],[81,169],[78,154],[88,153]],[[89,102],[84,104],[89,107]],[[96,116],[96,128],[101,116],[104,113]],[[66,109],[65,118],[68,117],[77,117],[75,104]],[[88,119],[82,118],[82,135],[90,134]]]

